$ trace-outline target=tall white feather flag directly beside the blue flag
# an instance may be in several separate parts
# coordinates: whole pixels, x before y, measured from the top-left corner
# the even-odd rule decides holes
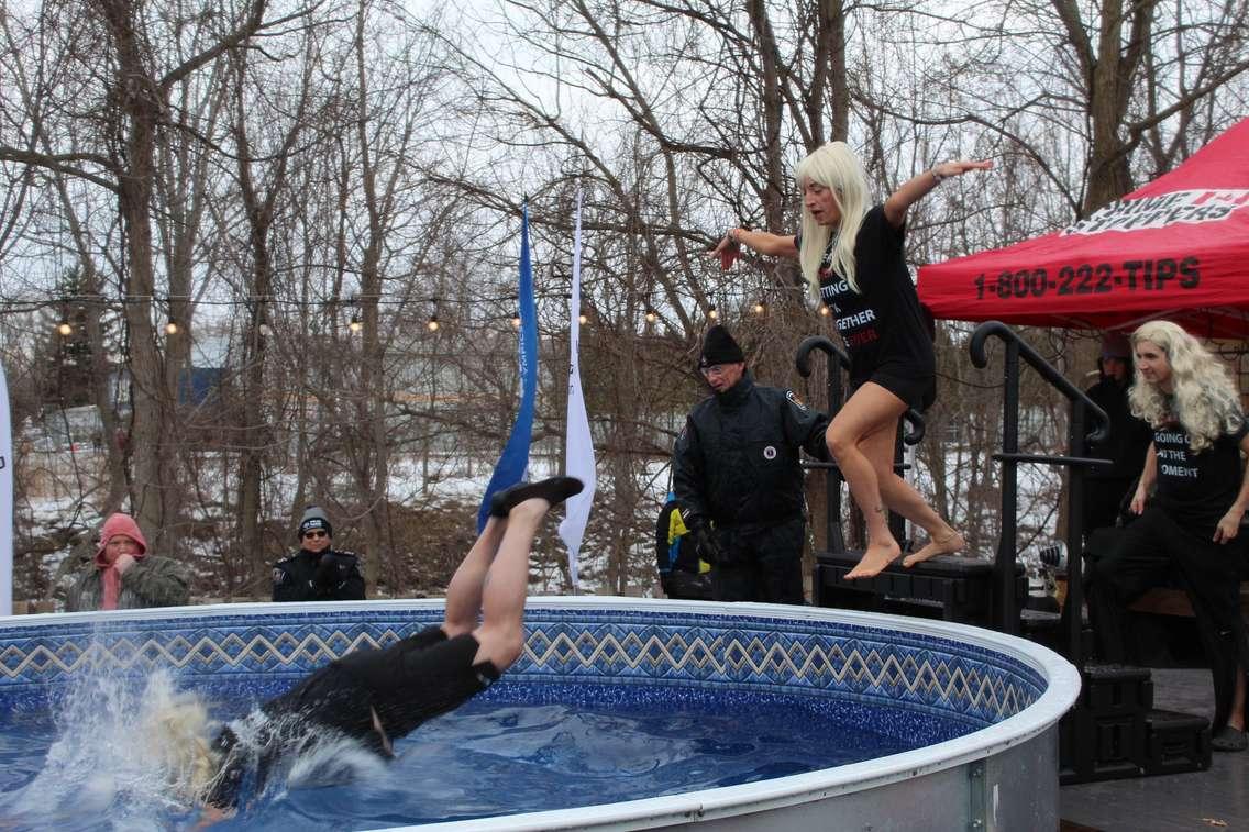
[[[565,473],[577,477],[586,488],[566,503],[567,516],[560,523],[560,538],[568,547],[568,577],[577,588],[577,555],[586,536],[590,507],[595,502],[595,442],[590,436],[586,397],[581,391],[581,191],[577,191],[577,224],[572,237],[572,295],[568,299],[568,436],[565,443]]]

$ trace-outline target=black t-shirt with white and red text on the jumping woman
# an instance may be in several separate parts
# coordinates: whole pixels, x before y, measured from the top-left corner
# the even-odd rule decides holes
[[[819,297],[832,309],[846,344],[852,385],[878,370],[902,379],[936,372],[928,326],[907,271],[904,240],[906,226],[894,227],[884,206],[877,205],[864,215],[854,240],[854,279],[862,294],[832,270],[827,255],[821,265]]]

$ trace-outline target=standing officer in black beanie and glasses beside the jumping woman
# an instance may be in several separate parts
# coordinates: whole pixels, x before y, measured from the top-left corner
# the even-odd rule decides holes
[[[698,369],[713,395],[686,418],[672,481],[686,526],[712,565],[712,596],[803,603],[798,451],[828,458],[828,416],[788,390],[756,385],[722,326],[707,331]]]

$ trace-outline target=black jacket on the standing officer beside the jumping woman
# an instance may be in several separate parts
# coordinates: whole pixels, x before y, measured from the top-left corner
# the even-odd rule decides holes
[[[686,418],[672,453],[677,501],[717,525],[772,526],[802,516],[799,448],[828,460],[828,416],[747,372]]]

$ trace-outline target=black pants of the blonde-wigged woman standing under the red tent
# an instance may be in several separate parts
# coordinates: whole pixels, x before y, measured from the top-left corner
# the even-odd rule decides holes
[[[1215,731],[1228,722],[1237,672],[1249,668],[1249,645],[1240,617],[1240,550],[1243,541],[1215,543],[1163,513],[1147,508],[1114,541],[1109,551],[1089,558],[1089,613],[1098,655],[1128,663],[1127,607],[1147,590],[1178,580],[1188,593],[1198,637],[1214,681]]]

